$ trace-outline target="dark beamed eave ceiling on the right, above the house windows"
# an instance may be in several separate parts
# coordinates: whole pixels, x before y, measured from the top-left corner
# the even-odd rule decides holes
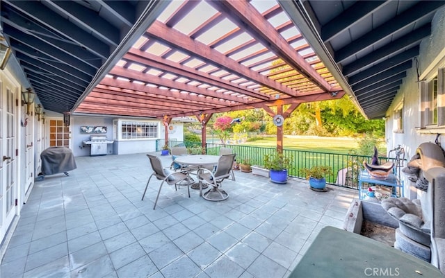
[[[355,96],[366,116],[375,119],[385,116],[407,69],[416,67],[419,44],[430,35],[432,17],[445,1],[280,4],[341,87]]]

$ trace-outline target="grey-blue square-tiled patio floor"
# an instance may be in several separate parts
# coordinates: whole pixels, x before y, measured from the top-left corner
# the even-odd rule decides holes
[[[159,154],[159,153],[158,153]],[[161,157],[163,165],[171,156]],[[322,227],[342,227],[357,191],[305,180],[273,184],[235,171],[209,202],[153,180],[145,154],[76,157],[77,169],[35,182],[0,277],[287,277]]]

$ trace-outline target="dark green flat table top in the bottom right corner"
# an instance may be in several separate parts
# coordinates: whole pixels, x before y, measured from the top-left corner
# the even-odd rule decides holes
[[[438,268],[359,234],[324,227],[289,278],[442,278]]]

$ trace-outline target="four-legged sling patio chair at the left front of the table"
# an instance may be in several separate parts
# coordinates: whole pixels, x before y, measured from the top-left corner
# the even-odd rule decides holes
[[[186,184],[184,185],[187,186],[188,198],[190,198],[190,176],[188,175],[187,171],[170,172],[168,171],[167,168],[162,167],[161,159],[159,159],[159,157],[156,157],[156,155],[147,155],[147,157],[149,158],[150,164],[152,165],[153,173],[148,178],[147,185],[145,185],[145,190],[142,196],[142,200],[144,200],[148,184],[153,176],[156,177],[156,179],[158,180],[162,180],[161,185],[159,186],[158,195],[156,196],[156,200],[154,201],[153,209],[156,208],[156,203],[158,202],[159,193],[161,193],[161,188],[164,182],[167,182],[167,184],[169,185],[175,184],[175,191],[177,191],[177,183],[186,181]]]

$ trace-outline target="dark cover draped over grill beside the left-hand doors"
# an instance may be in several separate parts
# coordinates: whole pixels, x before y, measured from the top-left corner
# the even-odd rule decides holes
[[[65,173],[77,168],[76,160],[70,148],[50,147],[42,151],[42,174],[54,175]]]

